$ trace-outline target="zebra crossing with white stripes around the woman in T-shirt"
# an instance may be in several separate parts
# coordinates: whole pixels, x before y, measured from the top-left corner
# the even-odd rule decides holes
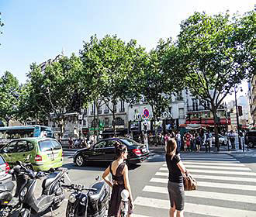
[[[227,154],[183,154],[198,190],[185,191],[185,216],[256,217],[256,173]],[[163,162],[134,201],[134,217],[168,216],[168,167]]]

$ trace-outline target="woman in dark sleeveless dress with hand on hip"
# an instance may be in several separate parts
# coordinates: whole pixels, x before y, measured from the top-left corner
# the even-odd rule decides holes
[[[112,194],[109,202],[108,216],[119,216],[120,215],[120,203],[121,203],[121,192],[123,189],[129,191],[129,210],[128,216],[132,216],[133,213],[133,197],[130,190],[129,178],[128,178],[128,167],[124,160],[127,158],[127,147],[123,144],[116,143],[116,157],[106,171],[102,174],[102,178],[112,188]],[[109,181],[107,176],[112,174],[112,183]]]

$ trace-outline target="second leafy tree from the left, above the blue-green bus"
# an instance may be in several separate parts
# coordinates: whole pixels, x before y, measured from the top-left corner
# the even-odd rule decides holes
[[[65,113],[71,108],[74,92],[81,92],[78,80],[82,70],[81,60],[73,53],[70,58],[61,57],[57,62],[48,65],[45,71],[41,71],[36,64],[32,64],[30,69],[27,103],[34,109],[34,117],[44,114],[50,118],[50,113],[54,114],[62,135],[67,119]]]

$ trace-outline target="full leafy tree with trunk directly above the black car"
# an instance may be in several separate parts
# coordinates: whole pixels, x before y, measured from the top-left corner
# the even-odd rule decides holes
[[[84,43],[80,52],[85,74],[91,81],[92,96],[95,98],[97,111],[100,103],[104,101],[112,112],[114,134],[116,134],[115,105],[119,98],[130,96],[127,93],[131,88],[128,88],[127,82],[131,81],[134,75],[132,72],[135,71],[136,49],[139,48],[135,40],[126,44],[117,36],[107,35],[102,40],[92,36],[91,41]]]

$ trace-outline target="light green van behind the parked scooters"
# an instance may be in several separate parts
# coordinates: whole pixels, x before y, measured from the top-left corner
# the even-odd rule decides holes
[[[50,168],[62,167],[63,163],[62,146],[51,138],[12,140],[2,147],[0,154],[11,167],[17,160],[24,162],[30,155],[29,162],[35,171],[48,171]]]

